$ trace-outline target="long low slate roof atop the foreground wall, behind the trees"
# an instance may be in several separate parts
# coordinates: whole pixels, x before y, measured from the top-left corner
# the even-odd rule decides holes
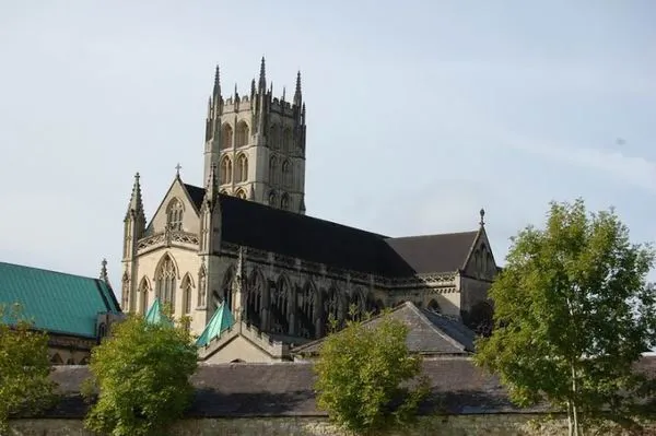
[[[643,357],[636,370],[656,376],[656,358]],[[480,414],[543,412],[546,405],[517,409],[496,377],[476,367],[467,357],[424,360],[423,374],[431,394],[421,413]],[[86,366],[55,367],[51,377],[63,401],[45,415],[82,417],[86,404],[80,398]],[[311,363],[200,364],[192,377],[196,397],[189,417],[323,416],[316,408],[315,376]]]

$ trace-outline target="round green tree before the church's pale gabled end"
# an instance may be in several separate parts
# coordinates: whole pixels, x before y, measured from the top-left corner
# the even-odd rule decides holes
[[[89,429],[162,435],[191,402],[197,350],[184,328],[129,316],[94,349],[90,367],[85,394],[95,388],[98,397],[85,420]]]

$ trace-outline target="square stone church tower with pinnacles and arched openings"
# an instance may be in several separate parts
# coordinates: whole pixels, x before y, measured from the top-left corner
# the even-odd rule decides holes
[[[219,189],[273,208],[305,213],[305,104],[301,72],[292,102],[267,90],[265,58],[250,95],[223,99],[219,67],[208,105],[204,180],[216,167]]]

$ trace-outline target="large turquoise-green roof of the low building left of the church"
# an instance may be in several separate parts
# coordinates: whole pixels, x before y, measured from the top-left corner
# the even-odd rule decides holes
[[[96,337],[98,313],[120,313],[102,280],[0,262],[0,305],[15,303],[37,329],[87,338]]]

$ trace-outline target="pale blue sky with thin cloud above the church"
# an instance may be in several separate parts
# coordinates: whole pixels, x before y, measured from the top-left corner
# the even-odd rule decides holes
[[[262,55],[277,94],[303,73],[313,216],[403,236],[484,207],[502,262],[581,196],[653,240],[655,22],[649,0],[0,0],[0,260],[107,257],[116,285],[133,174],[149,219],[177,162],[202,184],[214,64],[244,93]]]

